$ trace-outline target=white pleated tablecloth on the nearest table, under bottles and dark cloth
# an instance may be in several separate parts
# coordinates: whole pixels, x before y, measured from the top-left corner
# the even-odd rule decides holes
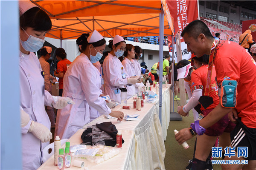
[[[153,88],[154,90],[154,88]],[[116,129],[122,133],[125,143],[122,145],[122,151],[112,159],[100,164],[93,164],[89,161],[86,166],[90,169],[143,169],[155,170],[165,169],[165,145],[164,138],[167,136],[170,114],[170,94],[168,88],[163,88],[162,98],[162,126],[159,120],[159,100],[153,104],[144,104],[142,111],[133,109],[133,99],[128,99],[127,105],[131,106],[130,110],[122,109],[117,106],[114,110],[124,112],[124,114],[140,114],[140,120],[117,122],[117,119],[107,119],[105,116],[93,120],[88,125],[96,123],[112,122]],[[70,139],[70,145],[80,144],[83,130],[77,131]],[[53,156],[39,167],[41,170],[58,169],[53,165]],[[71,167],[71,169],[79,169]]]

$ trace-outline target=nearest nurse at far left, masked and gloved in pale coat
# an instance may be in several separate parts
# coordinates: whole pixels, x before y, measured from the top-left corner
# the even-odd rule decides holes
[[[43,47],[45,34],[52,27],[49,16],[30,1],[19,1],[19,7],[20,96],[17,97],[20,97],[22,169],[35,170],[43,163],[42,150],[52,139],[44,105],[61,109],[67,102],[59,98],[54,102],[52,95],[44,90],[44,71],[34,54]]]

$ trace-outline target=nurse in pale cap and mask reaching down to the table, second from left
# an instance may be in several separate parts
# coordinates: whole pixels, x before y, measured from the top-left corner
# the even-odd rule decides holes
[[[99,61],[105,50],[106,40],[94,30],[81,36],[82,53],[71,63],[63,79],[63,96],[70,97],[75,104],[58,110],[55,136],[70,138],[77,130],[90,122],[90,108],[99,115],[110,115],[123,119],[123,112],[111,111],[100,87],[103,84],[101,74],[92,63]],[[97,115],[98,113],[95,112]]]

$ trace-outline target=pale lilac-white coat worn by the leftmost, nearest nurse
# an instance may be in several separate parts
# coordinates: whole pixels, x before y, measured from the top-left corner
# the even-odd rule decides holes
[[[50,130],[50,120],[44,105],[51,106],[52,96],[44,90],[41,65],[34,53],[20,52],[20,108],[29,114],[29,123],[21,128],[23,169],[37,169],[42,162],[42,149],[49,142],[41,143],[28,132],[31,120],[45,125]],[[19,113],[20,114],[20,113]]]

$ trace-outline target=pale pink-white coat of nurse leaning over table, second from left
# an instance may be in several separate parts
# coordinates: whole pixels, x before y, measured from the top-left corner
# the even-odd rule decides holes
[[[58,110],[55,136],[60,136],[61,139],[70,138],[77,130],[89,123],[89,106],[96,109],[100,115],[111,113],[105,100],[99,96],[102,94],[100,87],[99,71],[88,57],[81,53],[64,75],[63,96],[70,97],[75,104]]]

